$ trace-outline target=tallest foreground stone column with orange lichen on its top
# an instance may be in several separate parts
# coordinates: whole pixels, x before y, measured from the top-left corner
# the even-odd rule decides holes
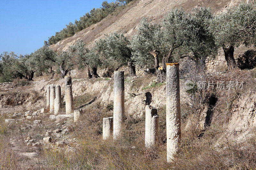
[[[166,63],[166,136],[167,162],[172,162],[181,138],[179,63]]]

